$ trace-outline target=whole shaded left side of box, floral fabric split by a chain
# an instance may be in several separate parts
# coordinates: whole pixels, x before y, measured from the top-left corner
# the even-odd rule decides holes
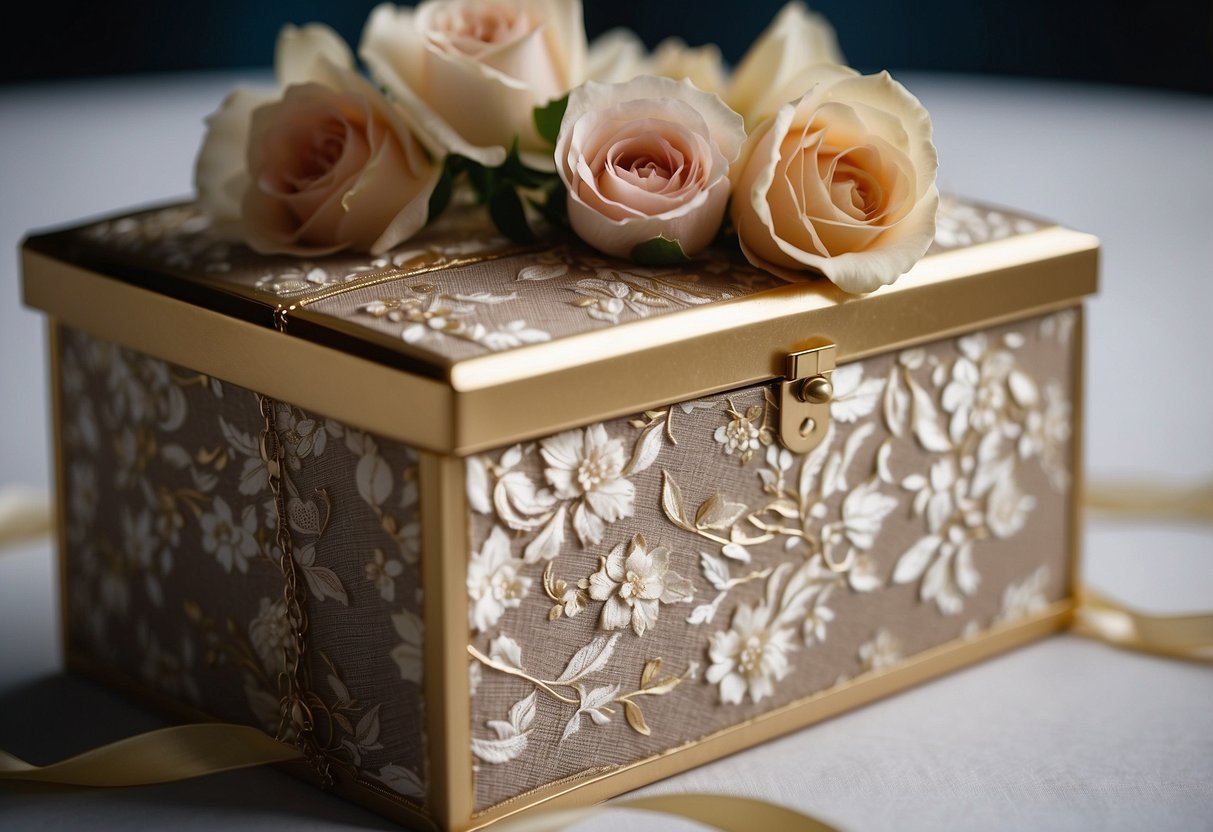
[[[79,331],[58,338],[74,663],[277,733],[292,645],[263,399]],[[338,782],[423,807],[417,454],[269,405],[317,747]]]

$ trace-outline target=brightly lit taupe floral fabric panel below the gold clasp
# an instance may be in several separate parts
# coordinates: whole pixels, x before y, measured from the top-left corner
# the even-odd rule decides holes
[[[1055,617],[1076,317],[838,367],[807,455],[758,386],[469,457],[477,810]]]

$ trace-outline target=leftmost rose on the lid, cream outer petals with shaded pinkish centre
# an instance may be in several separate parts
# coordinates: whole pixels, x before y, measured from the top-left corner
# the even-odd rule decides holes
[[[381,253],[425,226],[442,175],[404,114],[330,29],[287,27],[279,93],[238,90],[209,119],[198,201],[262,253]]]

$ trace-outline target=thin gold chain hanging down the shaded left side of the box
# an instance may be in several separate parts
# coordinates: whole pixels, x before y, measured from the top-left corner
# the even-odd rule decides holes
[[[308,707],[306,694],[311,689],[307,655],[307,611],[300,602],[298,570],[295,568],[295,549],[286,519],[283,497],[283,443],[278,435],[278,420],[273,399],[258,395],[264,428],[261,431],[261,461],[266,465],[269,490],[274,495],[274,514],[278,518],[279,568],[283,570],[283,604],[290,626],[290,643],[283,648],[283,671],[278,674],[279,723],[278,739],[294,742],[303,758],[315,769],[325,786],[332,785],[329,758],[315,742],[315,723]]]

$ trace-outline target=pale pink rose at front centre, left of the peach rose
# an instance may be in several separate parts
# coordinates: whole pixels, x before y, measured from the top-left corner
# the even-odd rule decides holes
[[[609,255],[665,238],[693,256],[719,230],[744,139],[741,118],[689,81],[590,81],[569,95],[556,142],[569,222]]]

